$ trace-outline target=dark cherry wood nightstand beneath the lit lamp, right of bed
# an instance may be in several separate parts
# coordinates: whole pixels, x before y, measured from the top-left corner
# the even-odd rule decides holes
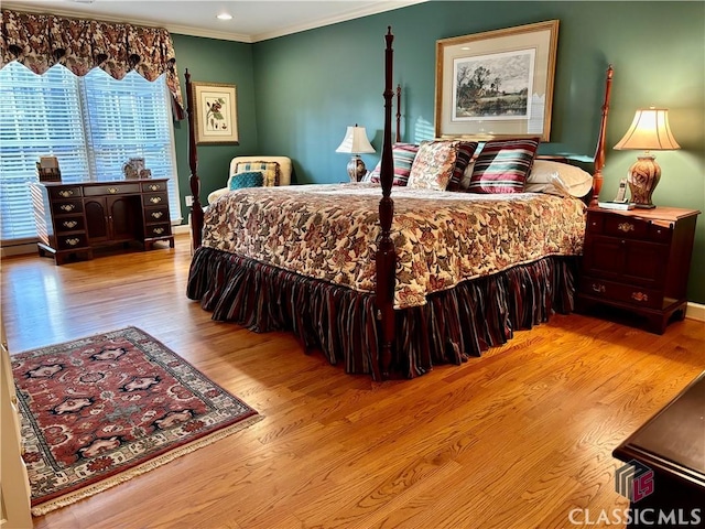
[[[682,320],[699,213],[675,207],[589,208],[577,310],[600,303],[631,311],[658,334],[675,313]]]

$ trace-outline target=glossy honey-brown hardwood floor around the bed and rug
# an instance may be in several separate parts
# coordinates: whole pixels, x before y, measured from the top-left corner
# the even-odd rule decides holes
[[[377,384],[290,334],[210,321],[185,296],[189,259],[177,237],[2,261],[11,352],[134,325],[264,415],[35,528],[575,527],[571,511],[627,508],[612,449],[705,368],[703,323],[657,336],[556,315],[463,366]]]

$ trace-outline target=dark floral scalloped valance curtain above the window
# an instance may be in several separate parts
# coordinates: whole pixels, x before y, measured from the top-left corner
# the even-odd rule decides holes
[[[162,28],[142,28],[53,14],[2,10],[0,67],[18,61],[35,74],[62,64],[76,75],[94,67],[121,79],[135,71],[147,80],[166,73],[174,118],[185,117],[174,45]]]

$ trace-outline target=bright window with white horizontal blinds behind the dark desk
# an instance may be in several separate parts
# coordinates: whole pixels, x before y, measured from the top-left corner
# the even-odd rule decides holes
[[[13,62],[0,69],[0,239],[36,237],[29,183],[42,155],[58,159],[63,182],[122,177],[142,156],[152,177],[170,179],[172,222],[181,223],[171,95],[131,72],[77,77],[57,65],[36,75]]]

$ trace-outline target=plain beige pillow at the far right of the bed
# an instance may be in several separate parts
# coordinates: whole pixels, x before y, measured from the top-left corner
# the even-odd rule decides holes
[[[527,193],[549,193],[551,195],[587,195],[593,187],[593,175],[581,168],[567,163],[536,160],[527,177]]]

